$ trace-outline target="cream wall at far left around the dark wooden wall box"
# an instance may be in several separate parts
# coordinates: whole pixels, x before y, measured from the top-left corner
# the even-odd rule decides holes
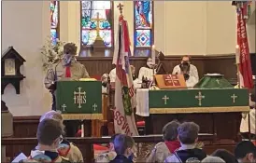
[[[2,51],[13,46],[26,60],[21,67],[26,76],[21,81],[21,94],[8,85],[2,95],[13,115],[42,115],[50,110],[39,53],[49,34],[50,1],[2,2]]]

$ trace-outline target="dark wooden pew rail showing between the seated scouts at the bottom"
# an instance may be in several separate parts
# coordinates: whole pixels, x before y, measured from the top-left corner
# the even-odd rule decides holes
[[[200,134],[199,141],[206,144],[205,150],[208,154],[212,153],[216,149],[224,148],[233,152],[235,144],[215,144],[216,135],[213,134]],[[159,143],[163,141],[162,135],[149,135],[149,136],[136,136],[134,137],[135,143]],[[75,143],[78,145],[78,148],[81,150],[84,160],[87,163],[93,162],[93,147],[94,143],[109,143],[109,137],[102,138],[67,138],[69,142]],[[26,156],[30,155],[31,149],[35,148],[37,144],[36,138],[2,138],[2,146],[6,146],[6,154],[10,160],[13,160],[15,156],[18,156],[21,152]],[[138,145],[140,146],[140,145]],[[143,145],[138,149],[138,156],[143,153]]]

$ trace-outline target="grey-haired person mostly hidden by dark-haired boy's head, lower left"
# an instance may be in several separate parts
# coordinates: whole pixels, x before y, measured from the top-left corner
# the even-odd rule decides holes
[[[56,111],[50,111],[40,117],[40,122],[44,119],[54,119],[63,124],[63,116]],[[64,135],[63,135],[64,136]],[[68,158],[72,162],[83,162],[83,156],[81,151],[74,143],[69,143],[67,140],[63,141],[58,146],[58,152],[60,156]]]

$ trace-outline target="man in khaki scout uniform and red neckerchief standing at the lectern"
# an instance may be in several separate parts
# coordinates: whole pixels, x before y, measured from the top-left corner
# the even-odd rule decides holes
[[[47,72],[45,77],[45,87],[50,89],[52,94],[52,105],[51,109],[56,110],[56,83],[57,81],[72,81],[79,80],[80,78],[89,78],[89,74],[83,64],[76,61],[75,56],[77,54],[78,47],[73,43],[67,43],[64,45],[64,58],[53,64]],[[69,123],[70,122],[70,123]],[[75,129],[75,121],[67,122],[67,136],[69,135],[70,129]],[[74,123],[73,123],[74,122]],[[73,128],[72,128],[73,126]],[[74,131],[75,132],[75,131]],[[73,135],[73,134],[72,134]]]

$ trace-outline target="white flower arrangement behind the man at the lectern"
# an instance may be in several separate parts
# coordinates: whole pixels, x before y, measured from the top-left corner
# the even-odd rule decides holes
[[[40,49],[43,60],[44,70],[48,70],[50,66],[58,61],[60,61],[64,56],[64,42],[56,39],[53,44],[50,37],[46,41],[46,45]]]

